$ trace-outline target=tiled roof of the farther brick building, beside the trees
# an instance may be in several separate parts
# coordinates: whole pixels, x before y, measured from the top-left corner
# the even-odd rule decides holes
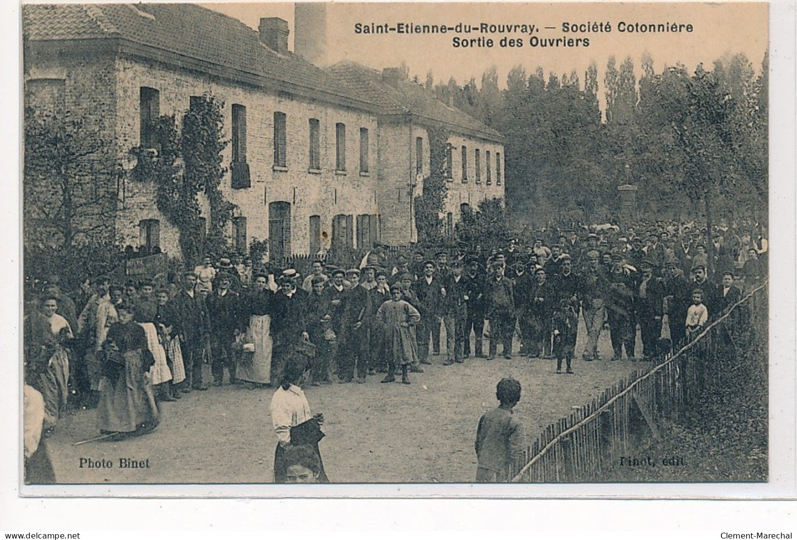
[[[327,72],[345,86],[356,89],[363,99],[376,104],[382,114],[411,114],[475,132],[487,139],[502,137],[473,116],[444,104],[420,84],[398,80],[393,86],[383,81],[382,72],[350,61],[332,65]]]

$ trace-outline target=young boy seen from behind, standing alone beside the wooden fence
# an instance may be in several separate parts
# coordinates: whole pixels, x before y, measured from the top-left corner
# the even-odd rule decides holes
[[[520,382],[502,378],[496,397],[501,405],[482,415],[476,430],[477,482],[508,482],[509,466],[523,452],[523,426],[512,416],[520,401]]]

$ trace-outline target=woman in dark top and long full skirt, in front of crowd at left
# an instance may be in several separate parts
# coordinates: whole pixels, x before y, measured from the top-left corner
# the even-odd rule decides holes
[[[147,336],[133,322],[133,307],[116,306],[119,322],[108,329],[97,427],[104,433],[140,435],[158,425],[159,410],[147,373],[155,363]]]

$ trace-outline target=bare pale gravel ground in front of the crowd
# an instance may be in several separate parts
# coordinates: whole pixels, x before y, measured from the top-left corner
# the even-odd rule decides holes
[[[579,348],[586,337],[583,321]],[[517,345],[516,345],[517,347]],[[638,342],[638,350],[641,344]],[[445,340],[443,340],[445,349]],[[486,343],[485,343],[486,350]],[[609,335],[599,342],[611,356]],[[445,353],[444,353],[445,355]],[[476,471],[473,440],[482,413],[497,405],[495,385],[512,376],[523,385],[516,407],[528,443],[571,408],[596,397],[642,362],[574,361],[575,375],[555,374],[555,360],[513,357],[469,358],[411,374],[411,385],[380,384],[371,376],[358,385],[305,389],[314,413],[323,412],[327,436],[320,443],[333,482],[470,482]],[[206,366],[206,381],[210,370]],[[96,436],[96,413],[64,417],[48,440],[59,483],[269,483],[274,435],[269,414],[273,389],[224,385],[184,394],[161,404],[155,432],[120,441],[73,443]],[[80,459],[105,460],[112,467],[80,467]],[[120,460],[148,460],[144,468],[120,468]]]

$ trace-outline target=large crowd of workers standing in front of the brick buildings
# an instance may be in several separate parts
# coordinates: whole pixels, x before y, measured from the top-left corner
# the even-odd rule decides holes
[[[26,383],[43,397],[46,432],[74,393],[97,409],[104,436],[151,431],[161,402],[205,391],[208,382],[273,385],[281,396],[272,403],[275,463],[284,480],[291,428],[320,423],[300,383],[362,384],[375,374],[390,383],[400,374],[410,384],[410,374],[442,354],[443,328],[443,366],[493,360],[500,345],[505,358],[556,358],[556,374],[572,374],[579,315],[587,331],[583,360],[601,359],[606,326],[611,360],[622,360],[623,351],[632,362],[652,360],[767,276],[763,232],[716,229],[709,239],[705,228],[658,222],[548,229],[529,240],[511,237],[489,252],[459,245],[434,257],[377,246],[344,265],[314,260],[308,276],[237,254],[208,255],[182,276],[124,284],[86,276],[72,295],[61,291],[60,276],[50,276],[26,304]],[[298,413],[285,405],[294,401]],[[308,452],[293,454],[307,465],[304,477],[325,479],[320,458],[316,464]]]

